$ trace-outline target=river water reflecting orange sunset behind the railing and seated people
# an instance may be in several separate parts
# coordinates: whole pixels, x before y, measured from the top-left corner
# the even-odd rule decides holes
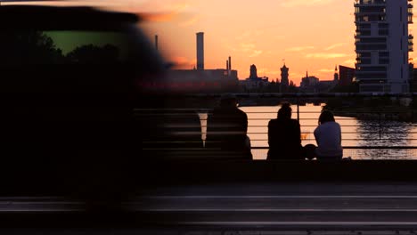
[[[248,115],[248,135],[252,147],[268,147],[267,132],[269,120],[276,118],[280,106],[241,107]],[[292,107],[292,118],[297,118],[297,106]],[[314,131],[317,127],[321,106],[299,107],[302,144],[315,144]],[[342,145],[348,147],[413,147],[417,146],[417,126],[411,123],[358,120],[336,117],[342,129]],[[256,159],[265,159],[267,150],[252,150]],[[344,157],[354,159],[417,159],[417,150],[344,150]]]

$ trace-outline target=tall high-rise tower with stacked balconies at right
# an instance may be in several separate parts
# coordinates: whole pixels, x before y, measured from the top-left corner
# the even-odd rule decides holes
[[[413,50],[410,0],[356,0],[356,78],[360,92],[409,91],[408,52]]]

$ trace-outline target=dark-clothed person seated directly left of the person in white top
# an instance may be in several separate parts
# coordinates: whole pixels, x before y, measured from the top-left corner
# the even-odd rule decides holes
[[[268,124],[268,160],[301,160],[305,154],[301,145],[298,120],[291,119],[289,103],[282,104],[278,118]]]

